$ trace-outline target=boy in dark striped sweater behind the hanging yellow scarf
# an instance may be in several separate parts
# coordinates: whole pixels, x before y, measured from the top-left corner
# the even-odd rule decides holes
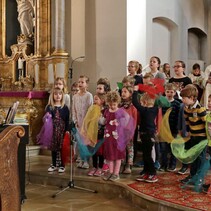
[[[165,85],[165,95],[167,100],[171,103],[172,111],[169,115],[169,125],[173,137],[178,134],[178,113],[180,110],[180,102],[174,99],[176,94],[176,88],[172,83]],[[169,107],[162,108],[162,115],[166,113]],[[170,144],[167,142],[160,142],[160,152],[161,152],[161,167],[160,171],[176,171],[176,158],[171,152]],[[168,156],[170,154],[170,156]],[[169,162],[168,162],[169,158]]]

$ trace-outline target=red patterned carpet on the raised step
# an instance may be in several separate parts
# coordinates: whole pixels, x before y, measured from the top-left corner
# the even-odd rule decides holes
[[[209,177],[209,181],[206,180],[206,182],[211,183],[211,176],[209,175]],[[154,184],[135,182],[129,184],[129,186],[140,193],[159,200],[182,205],[187,208],[211,211],[211,195],[194,192],[191,187],[182,188],[179,180],[183,179],[184,176],[176,173],[161,173],[158,175],[158,178],[158,182]]]

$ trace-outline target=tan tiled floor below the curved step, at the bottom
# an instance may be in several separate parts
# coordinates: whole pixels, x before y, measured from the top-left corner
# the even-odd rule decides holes
[[[88,193],[76,189],[67,191],[52,198],[58,191],[55,186],[28,184],[26,186],[27,200],[22,204],[22,211],[118,211],[141,210],[124,199],[103,195],[102,193]]]

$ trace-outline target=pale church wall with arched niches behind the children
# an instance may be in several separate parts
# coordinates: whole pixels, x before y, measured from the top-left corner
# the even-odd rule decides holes
[[[153,55],[159,56],[162,63],[169,62],[171,66],[175,60],[184,60],[188,66],[188,29],[193,27],[208,35],[208,39],[202,41],[202,48],[204,51],[210,49],[210,14],[207,14],[203,0],[142,0],[142,3],[140,5],[138,0],[90,0],[89,4],[86,3],[86,59],[75,63],[77,73],[73,80],[84,73],[91,79],[90,89],[95,90],[96,80],[108,77],[112,88],[115,88],[116,82],[126,74],[129,60],[136,59],[146,65]],[[132,7],[136,9],[129,17],[128,11],[132,11]],[[137,27],[131,28],[133,20],[137,20]],[[71,39],[71,43],[76,43],[77,47],[80,37]],[[207,49],[205,46],[208,46]],[[201,54],[205,65],[210,63],[210,56],[205,56],[210,53]],[[189,65],[187,72],[190,68]]]

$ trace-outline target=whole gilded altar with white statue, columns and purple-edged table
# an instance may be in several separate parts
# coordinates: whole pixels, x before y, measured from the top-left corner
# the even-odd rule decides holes
[[[30,11],[28,19],[22,9]],[[16,116],[28,120],[32,145],[55,79],[68,80],[64,9],[63,0],[2,0],[0,6],[0,119],[19,101]]]

